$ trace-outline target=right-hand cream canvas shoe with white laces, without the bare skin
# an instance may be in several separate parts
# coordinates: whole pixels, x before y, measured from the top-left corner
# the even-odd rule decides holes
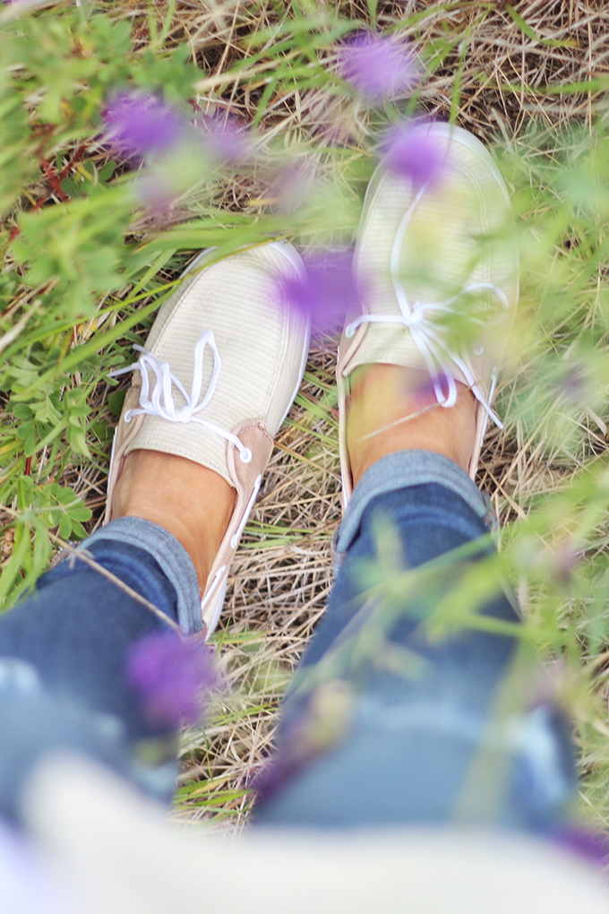
[[[381,163],[368,186],[353,259],[360,314],[344,325],[337,366],[343,502],[352,494],[347,450],[350,376],[381,362],[424,368],[449,408],[456,381],[477,399],[476,476],[501,347],[518,299],[518,256],[499,168],[471,133],[447,123],[413,128],[437,144],[441,174],[416,187]],[[457,342],[454,342],[457,336]]]

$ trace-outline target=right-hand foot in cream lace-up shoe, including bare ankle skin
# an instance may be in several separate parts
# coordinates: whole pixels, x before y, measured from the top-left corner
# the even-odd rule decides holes
[[[473,479],[518,296],[509,198],[488,150],[446,123],[413,131],[437,146],[435,182],[386,165],[366,192],[353,260],[364,301],[339,348],[343,502],[388,453],[444,454]]]

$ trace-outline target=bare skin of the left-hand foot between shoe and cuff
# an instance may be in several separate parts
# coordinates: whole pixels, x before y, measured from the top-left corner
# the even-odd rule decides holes
[[[235,489],[207,467],[160,451],[132,451],[112,499],[112,519],[163,526],[192,558],[201,593],[235,506]]]

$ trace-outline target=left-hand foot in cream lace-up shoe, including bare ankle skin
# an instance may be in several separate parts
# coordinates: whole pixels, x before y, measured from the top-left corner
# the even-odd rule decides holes
[[[133,381],[106,509],[106,521],[142,517],[182,543],[208,634],[309,352],[309,327],[283,307],[281,281],[304,269],[291,245],[212,257],[204,252],[191,264],[139,362],[122,369],[134,369]]]

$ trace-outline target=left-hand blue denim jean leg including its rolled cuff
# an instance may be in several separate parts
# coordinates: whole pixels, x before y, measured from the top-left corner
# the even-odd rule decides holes
[[[0,617],[0,814],[7,818],[18,819],[28,772],[56,749],[83,752],[165,800],[174,790],[174,757],[152,766],[134,758],[133,747],[151,739],[167,739],[171,752],[175,733],[144,716],[126,663],[133,643],[168,627],[163,616],[184,632],[201,628],[193,564],[166,530],[137,517],[112,521],[79,555],[93,564],[65,559]]]

